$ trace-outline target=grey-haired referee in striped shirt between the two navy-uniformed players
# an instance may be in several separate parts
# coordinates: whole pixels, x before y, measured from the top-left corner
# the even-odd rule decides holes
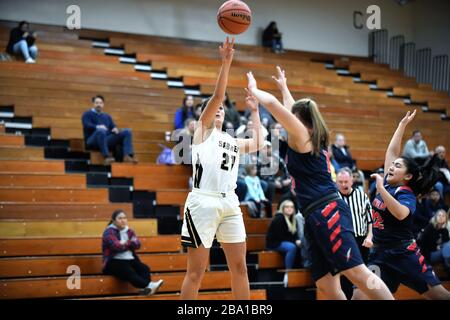
[[[342,199],[350,207],[352,212],[353,229],[359,251],[367,264],[369,248],[372,247],[372,207],[369,197],[359,189],[353,189],[352,171],[342,168],[336,176],[336,184]]]

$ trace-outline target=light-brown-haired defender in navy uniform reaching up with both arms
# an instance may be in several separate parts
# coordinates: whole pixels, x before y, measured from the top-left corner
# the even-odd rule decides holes
[[[353,233],[350,208],[340,198],[331,179],[327,153],[327,126],[311,99],[294,101],[284,71],[273,77],[284,106],[270,93],[259,90],[252,73],[248,89],[288,132],[288,170],[305,216],[305,236],[310,244],[312,276],[324,299],[345,300],[340,285],[344,274],[371,299],[393,299],[388,287],[364,265]]]

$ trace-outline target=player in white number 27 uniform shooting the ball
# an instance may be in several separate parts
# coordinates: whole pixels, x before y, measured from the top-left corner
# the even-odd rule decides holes
[[[203,103],[192,145],[193,189],[184,207],[182,244],[188,247],[186,276],[181,299],[196,299],[209,261],[214,237],[220,242],[231,272],[235,299],[250,299],[247,276],[246,234],[239,200],[234,192],[239,154],[262,148],[258,101],[247,92],[246,104],[258,128],[251,139],[235,139],[222,132],[225,117],[223,100],[234,54],[234,39],[219,47],[222,66],[214,94]]]

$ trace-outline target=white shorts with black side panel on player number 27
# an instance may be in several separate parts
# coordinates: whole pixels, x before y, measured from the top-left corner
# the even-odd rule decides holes
[[[245,242],[242,211],[234,192],[218,193],[194,189],[184,206],[181,244],[211,248],[214,237],[221,243]]]

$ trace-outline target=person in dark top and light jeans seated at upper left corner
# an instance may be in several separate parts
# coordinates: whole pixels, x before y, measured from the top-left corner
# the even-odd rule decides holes
[[[21,21],[19,26],[11,30],[6,52],[12,55],[21,54],[25,63],[35,63],[38,49],[35,45],[37,34],[30,31],[30,25]]]

